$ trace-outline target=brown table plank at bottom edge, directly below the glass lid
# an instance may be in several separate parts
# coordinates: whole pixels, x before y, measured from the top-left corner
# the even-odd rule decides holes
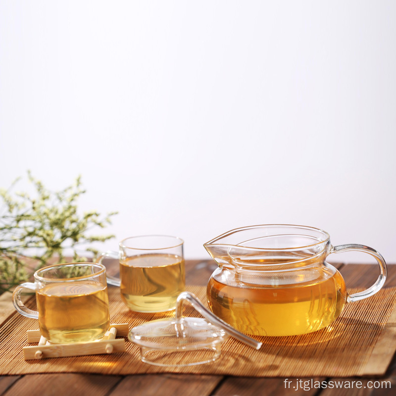
[[[207,396],[220,381],[213,375],[128,375],[111,396]]]

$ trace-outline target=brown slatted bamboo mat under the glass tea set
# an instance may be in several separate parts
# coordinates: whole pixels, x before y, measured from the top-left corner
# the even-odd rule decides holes
[[[205,288],[188,287],[201,301]],[[355,293],[357,290],[349,290]],[[110,322],[128,322],[130,328],[145,321],[170,317],[174,313],[142,314],[128,310],[119,289],[109,287]],[[349,377],[382,375],[395,352],[396,288],[383,289],[375,296],[346,305],[333,325],[304,336],[257,337],[263,342],[253,350],[234,339],[223,346],[213,363],[193,367],[156,367],[139,360],[139,348],[126,342],[127,352],[111,355],[64,357],[25,361],[26,331],[38,322],[15,312],[0,328],[0,375],[30,373],[193,373],[249,377]],[[34,298],[31,307],[35,306]],[[187,310],[186,310],[187,311]],[[199,316],[197,312],[187,314]]]

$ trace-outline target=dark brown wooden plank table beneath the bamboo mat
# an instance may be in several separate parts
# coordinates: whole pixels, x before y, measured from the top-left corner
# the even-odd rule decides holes
[[[116,265],[113,263],[112,265]],[[337,264],[348,288],[368,287],[379,274],[377,265]],[[212,260],[190,260],[186,262],[186,282],[190,285],[206,285],[216,268]],[[396,286],[396,265],[388,266],[385,287]],[[395,340],[396,342],[396,340]],[[215,363],[214,363],[215,364]],[[300,379],[298,379],[300,380]],[[302,381],[311,380],[302,378]],[[289,389],[285,389],[285,378],[248,378],[215,375],[94,375],[94,374],[31,374],[22,376],[0,376],[0,396],[250,396],[250,395],[396,395],[396,358],[387,374],[381,378],[315,378],[320,381],[361,381],[361,389],[293,389],[296,378],[289,378]],[[370,383],[372,381],[372,383]],[[369,389],[374,381],[389,381],[388,388]],[[391,388],[390,388],[391,384]],[[376,383],[375,385],[378,385]],[[366,388],[364,388],[366,387]],[[385,385],[384,385],[385,387]]]

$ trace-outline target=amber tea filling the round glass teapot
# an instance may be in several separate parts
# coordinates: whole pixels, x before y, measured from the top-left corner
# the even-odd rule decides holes
[[[333,267],[321,269],[308,282],[264,287],[244,284],[235,271],[218,269],[209,280],[207,297],[213,313],[242,333],[292,336],[332,323],[346,303],[347,292]]]

